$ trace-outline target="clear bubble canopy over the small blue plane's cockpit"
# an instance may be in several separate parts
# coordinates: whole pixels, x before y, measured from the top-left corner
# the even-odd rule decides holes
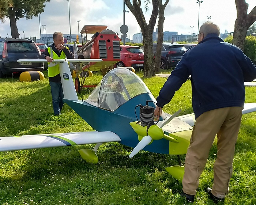
[[[114,68],[103,77],[85,101],[114,111],[127,100],[142,93],[151,92],[138,75],[126,68]]]

